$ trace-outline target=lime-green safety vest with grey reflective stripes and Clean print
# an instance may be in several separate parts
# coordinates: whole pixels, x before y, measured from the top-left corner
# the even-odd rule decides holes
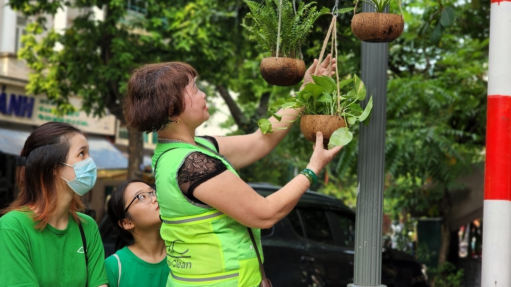
[[[158,143],[152,158],[163,222],[160,234],[167,246],[170,267],[167,286],[258,286],[259,261],[247,228],[211,206],[188,200],[177,184],[178,169],[196,151],[222,160],[228,170],[237,174],[210,141],[200,137],[195,141],[199,147],[174,141]],[[253,229],[253,233],[263,256],[261,230]]]

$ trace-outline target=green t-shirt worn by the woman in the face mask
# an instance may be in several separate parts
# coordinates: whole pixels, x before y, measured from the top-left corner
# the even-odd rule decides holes
[[[108,283],[105,251],[94,220],[78,213],[87,242],[88,274],[78,224],[69,214],[64,230],[36,230],[32,211],[10,211],[0,218],[0,286],[89,287]]]

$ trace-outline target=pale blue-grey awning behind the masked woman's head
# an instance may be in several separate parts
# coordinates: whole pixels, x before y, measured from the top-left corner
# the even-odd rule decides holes
[[[19,155],[30,132],[0,128],[0,151]],[[128,158],[104,137],[87,136],[89,154],[98,170],[124,170],[128,168]]]

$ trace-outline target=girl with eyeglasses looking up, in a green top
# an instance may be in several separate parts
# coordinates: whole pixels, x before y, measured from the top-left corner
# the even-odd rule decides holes
[[[108,201],[108,217],[119,232],[116,249],[127,243],[105,260],[108,285],[165,286],[170,269],[154,189],[138,179],[123,183]]]

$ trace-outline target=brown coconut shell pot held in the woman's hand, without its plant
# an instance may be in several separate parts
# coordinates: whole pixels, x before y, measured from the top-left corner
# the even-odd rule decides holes
[[[323,145],[327,146],[332,134],[346,127],[344,118],[338,115],[303,115],[300,119],[300,130],[305,138],[316,142],[316,132],[323,134]]]

